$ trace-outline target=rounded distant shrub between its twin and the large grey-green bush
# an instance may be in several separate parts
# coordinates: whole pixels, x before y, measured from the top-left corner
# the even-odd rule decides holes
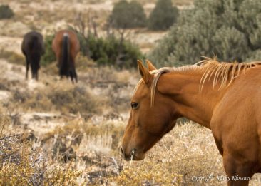
[[[152,30],[167,30],[178,18],[178,8],[173,7],[171,0],[158,0],[150,13],[148,28]]]

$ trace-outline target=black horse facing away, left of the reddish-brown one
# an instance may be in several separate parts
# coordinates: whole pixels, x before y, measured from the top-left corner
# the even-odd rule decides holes
[[[26,56],[26,79],[28,79],[29,64],[31,65],[32,78],[38,80],[41,55],[44,54],[44,41],[41,33],[30,31],[24,35],[21,51]]]

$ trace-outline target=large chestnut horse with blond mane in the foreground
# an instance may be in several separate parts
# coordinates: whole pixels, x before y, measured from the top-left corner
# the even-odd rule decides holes
[[[125,160],[145,153],[186,117],[210,128],[223,157],[228,185],[248,185],[261,172],[261,62],[219,63],[206,58],[192,66],[160,68],[138,61],[141,80],[131,99],[123,135]]]

